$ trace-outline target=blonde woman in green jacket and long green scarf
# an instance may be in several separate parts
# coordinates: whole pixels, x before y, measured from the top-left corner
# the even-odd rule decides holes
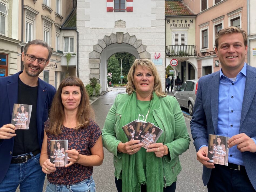
[[[128,94],[117,95],[102,129],[103,146],[114,155],[117,191],[175,191],[181,171],[178,156],[190,143],[180,106],[162,92],[160,76],[148,59],[136,59],[127,80]],[[140,140],[128,141],[122,129],[135,119],[164,131],[148,150]]]

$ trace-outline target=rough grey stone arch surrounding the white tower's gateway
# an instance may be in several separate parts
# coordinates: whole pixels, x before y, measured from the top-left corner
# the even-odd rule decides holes
[[[147,46],[142,44],[141,39],[129,33],[116,32],[110,36],[105,35],[93,45],[93,51],[89,53],[89,79],[95,77],[101,84],[102,91],[107,89],[107,59],[118,52],[128,52],[137,59],[150,59],[150,53],[146,51]]]

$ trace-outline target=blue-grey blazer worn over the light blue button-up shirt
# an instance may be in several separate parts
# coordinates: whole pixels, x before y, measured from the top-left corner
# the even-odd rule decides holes
[[[220,71],[203,76],[198,81],[197,97],[190,122],[191,134],[196,151],[202,145],[208,146],[209,134],[217,134],[218,130],[218,97]],[[244,99],[240,119],[239,133],[245,133],[256,139],[256,68],[247,65]],[[256,190],[256,153],[242,152],[242,159]],[[203,182],[207,185],[211,169],[203,166]]]

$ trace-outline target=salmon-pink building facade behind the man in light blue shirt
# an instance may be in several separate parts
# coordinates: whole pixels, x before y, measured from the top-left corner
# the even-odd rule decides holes
[[[215,35],[219,30],[228,26],[236,26],[248,31],[247,1],[235,1],[234,3],[232,0],[184,0],[183,2],[197,15],[196,60],[197,77],[200,78],[221,68],[214,50]],[[247,56],[245,61],[247,62]]]

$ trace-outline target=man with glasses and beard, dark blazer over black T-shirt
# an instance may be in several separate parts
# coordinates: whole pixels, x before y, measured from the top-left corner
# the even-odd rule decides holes
[[[24,71],[0,78],[0,191],[43,190],[45,173],[39,164],[44,122],[56,89],[38,78],[48,65],[52,49],[42,40],[26,44]],[[10,124],[14,104],[32,105],[29,129]]]

